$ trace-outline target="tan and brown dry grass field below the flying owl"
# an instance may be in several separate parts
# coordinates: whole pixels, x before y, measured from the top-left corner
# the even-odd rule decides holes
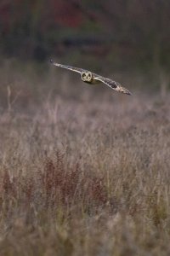
[[[170,255],[170,96],[9,70],[0,255]]]

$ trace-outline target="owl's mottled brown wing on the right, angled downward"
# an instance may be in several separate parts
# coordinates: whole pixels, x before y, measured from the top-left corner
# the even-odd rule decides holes
[[[107,79],[101,76],[94,76],[94,80],[98,80],[104,84],[107,84],[109,87],[111,87],[111,89],[116,90],[116,91],[120,91],[122,93],[125,93],[127,95],[132,95],[131,92],[129,90],[127,90],[126,88],[122,87],[121,84],[111,80],[111,79]]]

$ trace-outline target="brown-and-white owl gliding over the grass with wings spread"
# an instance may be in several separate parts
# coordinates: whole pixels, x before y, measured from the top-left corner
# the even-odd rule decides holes
[[[127,90],[126,88],[122,87],[121,84],[111,80],[111,79],[107,79],[105,77],[102,77],[96,73],[92,73],[88,70],[82,69],[82,68],[78,68],[78,67],[71,67],[71,66],[66,66],[66,65],[62,65],[59,63],[56,63],[52,60],[50,60],[50,62],[57,67],[63,67],[66,69],[69,69],[71,71],[80,73],[81,79],[83,82],[88,83],[88,84],[98,84],[98,83],[104,83],[106,85],[108,85],[109,87],[111,87],[111,89],[116,90],[116,91],[120,91],[122,93],[125,93],[127,95],[131,95],[130,91]]]

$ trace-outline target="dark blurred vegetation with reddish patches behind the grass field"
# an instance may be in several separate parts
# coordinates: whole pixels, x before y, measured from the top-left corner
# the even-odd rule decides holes
[[[39,61],[49,55],[94,55],[105,56],[108,67],[124,67],[125,61],[132,67],[165,68],[170,64],[169,9],[167,0],[3,0],[1,54]]]

